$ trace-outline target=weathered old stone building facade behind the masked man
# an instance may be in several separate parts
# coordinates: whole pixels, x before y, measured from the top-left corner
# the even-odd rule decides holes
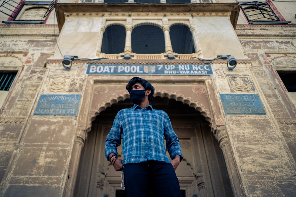
[[[2,0],[0,196],[125,196],[104,142],[133,76],[179,137],[183,196],[296,196],[295,10]]]

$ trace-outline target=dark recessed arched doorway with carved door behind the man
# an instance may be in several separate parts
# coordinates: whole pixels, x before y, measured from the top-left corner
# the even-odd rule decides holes
[[[121,172],[107,162],[104,144],[116,113],[132,106],[130,99],[125,99],[96,116],[81,152],[74,196],[125,196],[120,185]],[[176,174],[183,195],[233,196],[222,151],[205,117],[195,108],[168,97],[155,97],[152,106],[168,113],[179,137],[184,159]],[[118,153],[123,159],[121,146]]]

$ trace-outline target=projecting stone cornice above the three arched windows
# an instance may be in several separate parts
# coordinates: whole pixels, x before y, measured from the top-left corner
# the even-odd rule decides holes
[[[89,17],[89,13],[103,13],[108,12],[105,15],[118,13],[127,13],[127,16],[131,17],[133,14],[147,14],[151,13],[179,13],[179,15],[190,16],[202,16],[203,14],[209,14],[215,16],[215,13],[228,14],[230,12],[230,21],[233,27],[236,27],[237,19],[239,15],[240,5],[237,3],[209,3],[209,4],[130,4],[130,3],[120,3],[120,4],[107,4],[107,3],[90,3],[90,4],[77,4],[77,3],[58,3],[55,4],[55,10],[57,13],[57,20],[59,30],[65,23],[66,13],[81,14],[81,16]],[[87,14],[88,13],[88,14]],[[130,15],[128,14],[130,13]],[[227,15],[226,14],[226,15]],[[92,14],[91,14],[92,15]],[[158,15],[158,14],[157,14]],[[101,15],[102,16],[102,15]],[[219,14],[217,14],[219,16]],[[163,16],[165,17],[165,16]]]

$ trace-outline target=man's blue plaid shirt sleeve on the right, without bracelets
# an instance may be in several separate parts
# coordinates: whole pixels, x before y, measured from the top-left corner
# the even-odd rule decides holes
[[[180,155],[182,161],[183,154],[181,151],[181,145],[167,114],[165,114],[164,136],[166,141],[166,149],[170,154],[170,158],[173,159],[176,155]]]

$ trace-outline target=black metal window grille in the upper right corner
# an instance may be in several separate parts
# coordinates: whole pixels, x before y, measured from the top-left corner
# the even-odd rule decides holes
[[[291,21],[280,21],[267,2],[238,2],[250,24],[287,24]]]

